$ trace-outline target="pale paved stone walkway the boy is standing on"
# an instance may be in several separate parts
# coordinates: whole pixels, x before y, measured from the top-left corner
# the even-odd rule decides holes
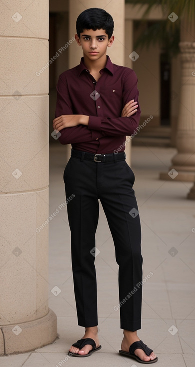
[[[186,199],[192,182],[160,181],[168,171],[174,148],[132,147],[134,189],[142,225],[143,285],[142,329],[139,337],[159,357],[158,367],[195,365],[195,201]],[[63,171],[65,146],[50,147],[50,208],[65,201]],[[33,352],[0,357],[3,367],[139,367],[119,355],[123,331],[118,304],[118,265],[104,212],[96,235],[99,339],[102,349],[87,358],[66,358],[72,342],[84,328],[77,325],[70,262],[70,231],[66,208],[50,222],[49,307],[57,314],[59,338]],[[57,285],[61,292],[54,296]],[[66,359],[68,360],[66,360]]]

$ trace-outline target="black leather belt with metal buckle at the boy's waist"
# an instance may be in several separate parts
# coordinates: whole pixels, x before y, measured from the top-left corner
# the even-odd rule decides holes
[[[93,160],[95,162],[111,162],[111,161],[117,161],[117,160],[124,160],[126,158],[126,154],[124,151],[121,151],[120,153],[89,153],[87,151],[81,151],[76,149],[71,149],[71,156],[74,156],[76,158],[87,159],[87,160]]]

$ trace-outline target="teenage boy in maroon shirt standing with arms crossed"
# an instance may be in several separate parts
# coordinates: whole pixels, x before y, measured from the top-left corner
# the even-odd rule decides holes
[[[113,64],[107,47],[114,41],[112,16],[90,8],[77,18],[75,39],[83,49],[79,65],[64,71],[57,84],[53,128],[62,144],[72,144],[64,169],[71,258],[78,324],[84,336],[69,354],[86,357],[99,350],[95,232],[100,199],[112,233],[119,264],[122,355],[154,363],[153,350],[137,336],[141,328],[142,255],[135,176],[125,161],[125,139],[139,125],[137,76]],[[125,301],[124,301],[125,299]]]

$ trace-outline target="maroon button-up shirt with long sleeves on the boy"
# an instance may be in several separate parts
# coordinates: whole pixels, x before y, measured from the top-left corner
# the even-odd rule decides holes
[[[60,130],[61,144],[72,144],[77,150],[111,153],[120,147],[139,125],[137,76],[129,67],[116,65],[107,55],[106,66],[96,82],[81,57],[79,65],[64,71],[57,83],[55,117],[62,114],[85,114],[89,124]],[[134,99],[137,112],[121,117],[124,105]],[[125,144],[120,151],[125,150]]]

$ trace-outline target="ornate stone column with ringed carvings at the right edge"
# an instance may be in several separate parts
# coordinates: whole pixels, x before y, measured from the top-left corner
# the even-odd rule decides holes
[[[195,181],[195,42],[180,42],[182,61],[181,97],[178,131],[176,137],[177,154],[172,158],[175,180]],[[171,176],[170,176],[171,177]],[[170,178],[161,173],[161,179]],[[172,179],[172,177],[170,178]]]

